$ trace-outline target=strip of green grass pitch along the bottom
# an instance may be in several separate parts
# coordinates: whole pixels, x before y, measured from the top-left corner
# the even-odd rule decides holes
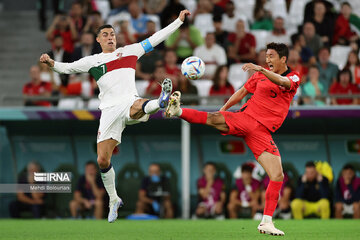
[[[0,239],[360,239],[360,220],[277,220],[285,237],[262,235],[252,220],[0,220]]]

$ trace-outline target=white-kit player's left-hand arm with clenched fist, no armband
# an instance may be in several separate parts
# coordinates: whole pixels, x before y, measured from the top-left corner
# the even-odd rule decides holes
[[[88,64],[87,57],[72,63],[62,63],[54,61],[47,54],[42,54],[40,56],[40,62],[47,64],[49,67],[53,68],[54,71],[64,74],[87,72],[91,66]]]

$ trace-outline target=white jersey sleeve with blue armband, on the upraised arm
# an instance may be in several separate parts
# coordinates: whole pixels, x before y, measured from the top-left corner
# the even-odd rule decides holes
[[[131,45],[126,46],[127,50],[131,52],[132,55],[136,55],[140,58],[145,53],[151,52],[154,50],[159,43],[167,39],[173,32],[178,29],[183,22],[178,18],[167,27],[161,29],[160,31],[154,33],[151,37]]]

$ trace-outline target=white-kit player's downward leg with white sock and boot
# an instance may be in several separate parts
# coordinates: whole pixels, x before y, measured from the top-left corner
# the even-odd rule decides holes
[[[108,222],[115,222],[118,216],[118,209],[124,205],[121,198],[116,193],[115,171],[110,162],[112,152],[117,144],[116,140],[108,139],[98,143],[98,164],[101,171],[101,179],[104,183],[106,192],[109,195],[109,214]]]

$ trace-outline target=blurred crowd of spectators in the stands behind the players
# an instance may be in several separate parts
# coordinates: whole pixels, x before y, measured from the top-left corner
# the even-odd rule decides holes
[[[142,96],[157,97],[159,82],[169,77],[175,90],[183,93],[184,104],[222,104],[252,74],[243,73],[241,65],[253,62],[267,67],[266,44],[283,42],[290,49],[288,66],[301,74],[302,85],[293,104],[359,104],[357,0],[75,0],[66,11],[56,7],[58,2],[53,1],[51,23],[46,22],[43,8],[39,16],[52,45],[48,53],[61,62],[100,53],[96,31],[105,23],[114,26],[117,47],[122,47],[151,36],[181,10],[192,12],[180,29],[139,59],[136,79]],[[202,80],[191,82],[181,74],[181,62],[191,55],[205,62]],[[96,81],[88,73],[62,75],[39,63],[30,68],[30,78],[23,88],[25,97],[98,94]],[[196,96],[223,98],[212,102]],[[25,102],[28,106],[57,104],[57,100]]]

